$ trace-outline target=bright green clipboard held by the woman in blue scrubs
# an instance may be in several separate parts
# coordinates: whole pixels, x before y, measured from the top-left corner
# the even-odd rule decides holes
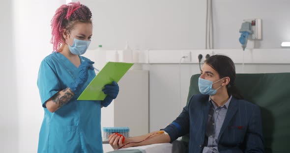
[[[77,100],[102,101],[107,96],[102,89],[106,84],[118,82],[133,66],[133,63],[108,62],[104,68],[87,85]]]

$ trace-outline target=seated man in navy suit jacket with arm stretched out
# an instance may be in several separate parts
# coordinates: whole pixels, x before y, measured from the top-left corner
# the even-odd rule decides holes
[[[173,142],[189,133],[189,153],[264,153],[260,108],[243,100],[234,80],[231,58],[209,57],[197,82],[202,94],[192,96],[169,126],[133,138],[111,134],[111,146],[120,149]]]

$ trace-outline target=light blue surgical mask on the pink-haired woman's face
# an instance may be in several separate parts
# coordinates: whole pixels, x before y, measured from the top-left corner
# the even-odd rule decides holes
[[[69,33],[69,35],[70,35],[70,33]],[[88,48],[88,46],[90,44],[90,41],[87,41],[87,40],[79,40],[79,39],[74,38],[74,43],[73,43],[72,46],[70,46],[69,43],[67,43],[67,44],[68,44],[69,51],[72,54],[82,55],[82,54],[84,54],[87,51],[87,48]]]

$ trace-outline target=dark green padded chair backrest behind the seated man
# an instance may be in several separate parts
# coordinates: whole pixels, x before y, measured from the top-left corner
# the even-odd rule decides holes
[[[198,78],[190,80],[188,98],[200,94]],[[290,144],[290,73],[236,74],[245,100],[260,106],[266,153],[288,153]],[[188,142],[188,135],[182,141]]]

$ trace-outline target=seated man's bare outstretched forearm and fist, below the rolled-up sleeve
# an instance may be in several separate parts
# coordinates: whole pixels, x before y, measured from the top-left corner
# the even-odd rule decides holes
[[[136,136],[132,138],[125,138],[124,143],[122,140],[123,136],[117,134],[109,135],[109,143],[113,149],[121,149],[128,147],[144,146],[156,143],[167,143],[170,142],[170,137],[168,134],[165,134],[164,131],[154,131],[145,135]]]

